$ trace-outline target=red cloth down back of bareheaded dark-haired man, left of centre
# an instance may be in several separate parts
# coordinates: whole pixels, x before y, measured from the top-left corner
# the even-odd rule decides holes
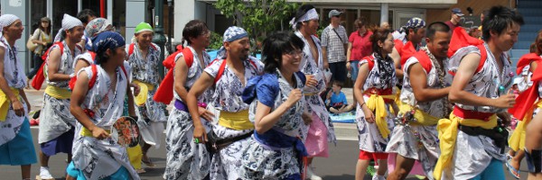
[[[161,102],[165,104],[169,104],[173,100],[173,69],[175,67],[175,57],[177,54],[182,52],[182,57],[184,57],[184,60],[186,62],[186,65],[190,68],[192,67],[192,62],[194,59],[194,55],[192,54],[192,50],[190,48],[184,48],[177,46],[177,51],[175,51],[172,55],[168,56],[164,59],[164,67],[169,69],[167,71],[167,74],[164,76],[164,80],[158,86],[158,89],[156,90],[156,94],[154,94],[154,101]]]

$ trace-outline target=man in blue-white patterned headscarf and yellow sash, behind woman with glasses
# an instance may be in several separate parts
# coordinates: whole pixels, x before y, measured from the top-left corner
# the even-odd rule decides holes
[[[248,120],[248,103],[241,99],[248,79],[261,75],[263,64],[248,56],[250,41],[242,28],[231,26],[224,32],[223,47],[219,57],[204,69],[200,78],[192,85],[186,104],[194,125],[193,140],[205,143],[210,140],[201,124],[198,99],[211,86],[212,105],[220,111],[218,123],[213,123],[211,140],[218,144],[210,149],[217,152],[211,157],[210,179],[234,180],[240,178],[241,148],[248,146],[254,124]]]

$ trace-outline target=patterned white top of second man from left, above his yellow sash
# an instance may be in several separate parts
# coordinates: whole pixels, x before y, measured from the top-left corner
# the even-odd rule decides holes
[[[62,44],[64,45],[64,51],[61,52],[62,55],[61,55],[61,61],[59,62],[59,68],[58,68],[58,71],[57,73],[59,74],[63,74],[63,75],[70,75],[72,73],[74,73],[74,66],[72,66],[74,63],[75,63],[75,57],[79,56],[79,54],[81,54],[81,50],[79,49],[79,45],[76,45],[78,47],[75,47],[73,49],[73,56],[71,56],[71,50],[68,48],[68,44],[66,44],[66,41],[62,41]],[[54,45],[51,47],[51,50],[52,49],[60,49],[60,46],[59,45]],[[51,55],[51,54],[49,54]],[[49,57],[47,57],[48,60],[45,61],[45,69],[47,69],[49,67]],[[69,80],[68,81],[57,81],[57,82],[51,82],[49,81],[49,72],[48,70],[44,70],[43,71],[45,73],[45,82],[47,82],[47,85],[54,85],[54,86],[58,86],[58,87],[61,87],[61,88],[66,88],[66,89],[69,89],[70,86],[68,85],[68,83],[70,82]]]

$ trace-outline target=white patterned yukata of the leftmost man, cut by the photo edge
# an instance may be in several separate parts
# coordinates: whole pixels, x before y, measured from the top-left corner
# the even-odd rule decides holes
[[[7,85],[17,89],[21,89],[26,86],[26,77],[23,73],[23,64],[18,63],[17,61],[17,49],[12,48],[5,41],[4,36],[0,39],[0,48],[5,49],[4,54],[4,77],[7,81]],[[19,96],[19,100],[23,103],[24,112],[28,112],[26,102],[23,101],[23,98]],[[27,118],[27,114],[23,116],[17,116],[14,112],[12,105],[9,105],[9,110],[5,116],[5,121],[0,121],[0,146],[6,142],[15,138],[21,126],[23,125],[24,119]]]

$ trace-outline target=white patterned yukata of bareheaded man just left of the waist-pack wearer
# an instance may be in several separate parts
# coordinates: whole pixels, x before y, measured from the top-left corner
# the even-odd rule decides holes
[[[429,50],[425,47],[421,48],[420,51],[425,51],[425,53],[430,54]],[[433,55],[431,56],[433,57]],[[446,58],[443,60],[444,67],[440,67],[440,64],[436,61],[437,59],[430,59],[432,64],[431,70],[425,72],[424,69],[427,88],[440,89],[443,88],[443,86],[450,86],[452,84],[452,81],[450,80],[452,75],[447,73],[448,59]],[[409,69],[415,64],[419,64],[419,60],[416,57],[408,58],[404,69]],[[444,74],[443,79],[440,79],[439,73],[441,76]],[[405,71],[403,89],[401,90],[400,95],[401,102],[416,107],[416,109],[426,112],[438,119],[448,115],[444,114],[446,112],[445,108],[447,108],[447,104],[445,103],[448,103],[445,101],[445,98],[431,102],[417,102],[410,80],[408,72]],[[441,80],[444,80],[444,82],[441,82]],[[406,126],[403,124],[396,124],[391,133],[391,139],[389,139],[386,152],[397,153],[402,157],[416,159],[421,162],[421,166],[427,178],[435,179],[433,177],[433,169],[438,160],[438,156],[440,155],[438,142],[436,124],[430,126],[413,124]]]

